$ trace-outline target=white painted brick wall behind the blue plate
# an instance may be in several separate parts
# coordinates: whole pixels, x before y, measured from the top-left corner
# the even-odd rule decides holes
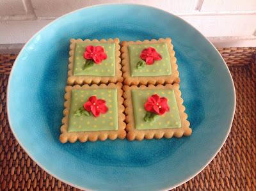
[[[217,47],[256,46],[256,0],[0,0],[0,50],[21,47],[70,11],[100,3],[138,3],[179,15]]]

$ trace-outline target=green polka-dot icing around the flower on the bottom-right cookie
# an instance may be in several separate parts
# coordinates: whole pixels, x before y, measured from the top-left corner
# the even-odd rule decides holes
[[[152,122],[146,122],[144,121],[144,116],[147,111],[145,111],[144,104],[147,102],[147,98],[154,94],[157,94],[161,97],[166,97],[168,99],[170,111],[166,112],[162,116],[158,116]],[[172,89],[132,89],[132,105],[135,128],[138,130],[181,127],[179,110],[174,95],[174,91]]]

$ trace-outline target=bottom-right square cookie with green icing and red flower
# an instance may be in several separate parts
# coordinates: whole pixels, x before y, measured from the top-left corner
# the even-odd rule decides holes
[[[179,84],[124,86],[127,139],[191,135]]]

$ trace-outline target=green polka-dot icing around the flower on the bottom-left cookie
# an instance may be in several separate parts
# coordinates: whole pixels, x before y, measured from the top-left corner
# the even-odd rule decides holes
[[[77,109],[83,107],[88,98],[93,95],[106,101],[108,112],[100,114],[98,118],[95,118],[92,112],[90,112],[90,116],[75,116]],[[68,116],[68,132],[117,130],[117,104],[117,89],[73,89]]]

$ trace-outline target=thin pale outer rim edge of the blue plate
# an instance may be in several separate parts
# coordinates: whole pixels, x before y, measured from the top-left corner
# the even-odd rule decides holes
[[[228,132],[225,136],[225,139],[223,139],[223,142],[221,143],[220,147],[216,150],[216,152],[212,155],[212,157],[207,161],[207,163],[205,165],[203,165],[198,171],[196,171],[195,173],[193,173],[191,176],[189,176],[189,178],[186,178],[185,180],[182,180],[180,181],[179,183],[176,183],[175,185],[172,185],[171,187],[167,187],[167,188],[164,188],[163,190],[171,190],[173,188],[176,188],[176,187],[179,187],[180,185],[186,183],[187,181],[191,180],[192,178],[194,178],[196,175],[198,175],[200,172],[202,172],[205,167],[207,167],[207,165],[209,165],[212,160],[216,157],[216,155],[218,155],[218,153],[220,152],[221,148],[223,147],[223,145],[225,144],[225,142],[227,141],[227,138],[228,138],[228,135],[230,134],[230,130],[232,128],[232,123],[233,123],[233,120],[234,120],[234,115],[235,115],[235,111],[236,111],[236,89],[235,89],[235,86],[234,86],[234,80],[232,79],[232,75],[230,73],[230,70],[228,69],[228,66],[227,66],[227,63],[225,62],[225,60],[223,59],[223,57],[221,56],[220,52],[218,51],[218,49],[216,49],[216,47],[214,47],[214,45],[212,44],[212,42],[210,42],[209,39],[207,39],[204,34],[202,34],[200,31],[198,31],[198,29],[196,29],[194,26],[192,26],[191,24],[189,24],[189,22],[187,22],[186,20],[182,19],[181,17],[175,15],[174,13],[170,13],[166,10],[162,10],[161,8],[156,8],[154,6],[149,6],[149,5],[146,5],[146,4],[140,4],[140,3],[102,3],[102,4],[95,4],[95,5],[92,5],[92,6],[86,6],[86,7],[83,7],[83,8],[79,8],[77,10],[74,10],[74,11],[70,11],[68,13],[65,13],[64,15],[61,15],[60,17],[58,17],[57,19],[54,19],[52,20],[51,22],[49,22],[47,25],[45,25],[44,27],[42,27],[40,30],[38,30],[35,34],[33,34],[33,36],[31,36],[31,38],[29,38],[29,40],[24,44],[24,46],[22,47],[22,49],[20,50],[18,56],[16,57],[13,65],[12,65],[12,70],[10,72],[10,75],[9,75],[9,78],[8,78],[8,84],[7,84],[7,89],[6,89],[6,108],[7,108],[7,118],[8,118],[8,123],[9,123],[9,126],[10,126],[10,129],[12,130],[12,134],[13,136],[15,137],[16,141],[20,144],[21,148],[28,154],[28,156],[34,161],[36,162],[36,164],[41,168],[43,169],[45,172],[47,172],[48,174],[50,174],[51,176],[53,176],[54,178],[62,181],[63,183],[66,183],[72,187],[76,187],[76,188],[79,188],[81,190],[90,190],[88,188],[85,188],[85,187],[80,187],[79,185],[76,185],[74,183],[71,183],[70,181],[68,180],[63,180],[62,178],[60,178],[58,175],[52,173],[50,170],[48,170],[47,168],[44,167],[44,165],[40,164],[40,162],[38,162],[34,157],[32,157],[31,153],[29,153],[29,151],[26,149],[25,146],[23,146],[22,142],[19,141],[18,139],[18,136],[15,134],[15,131],[13,130],[13,126],[12,126],[12,122],[11,122],[11,119],[10,119],[10,115],[9,115],[9,104],[8,104],[8,100],[9,100],[9,92],[10,92],[10,79],[12,79],[12,75],[13,75],[13,68],[15,68],[15,65],[17,64],[17,60],[19,59],[20,55],[22,54],[22,52],[24,51],[24,47],[26,47],[26,45],[28,45],[29,42],[31,42],[33,40],[33,38],[35,38],[36,34],[40,33],[41,31],[43,31],[46,27],[48,26],[51,26],[51,24],[53,24],[54,22],[56,22],[57,20],[60,20],[62,19],[63,17],[67,17],[67,15],[70,15],[72,13],[75,13],[77,11],[80,11],[80,10],[85,10],[85,9],[90,9],[90,8],[93,8],[93,7],[97,7],[97,6],[125,6],[125,5],[133,5],[133,6],[141,6],[141,7],[146,7],[146,8],[152,8],[152,9],[155,9],[155,10],[158,10],[158,11],[163,11],[164,13],[168,13],[169,15],[172,15],[173,17],[175,17],[176,19],[180,19],[182,20],[183,22],[186,22],[186,24],[188,24],[190,27],[192,27],[193,29],[195,29],[195,31],[197,31],[198,33],[201,34],[202,38],[205,38],[205,40],[207,40],[207,42],[209,42],[211,44],[211,46],[214,48],[214,50],[216,52],[218,52],[218,56],[221,57],[221,60],[223,61],[223,63],[225,64],[225,68],[227,69],[228,71],[228,75],[230,77],[230,80],[232,82],[232,91],[234,93],[234,105],[233,105],[233,112],[232,112],[232,118],[230,118],[230,125],[228,127]]]

